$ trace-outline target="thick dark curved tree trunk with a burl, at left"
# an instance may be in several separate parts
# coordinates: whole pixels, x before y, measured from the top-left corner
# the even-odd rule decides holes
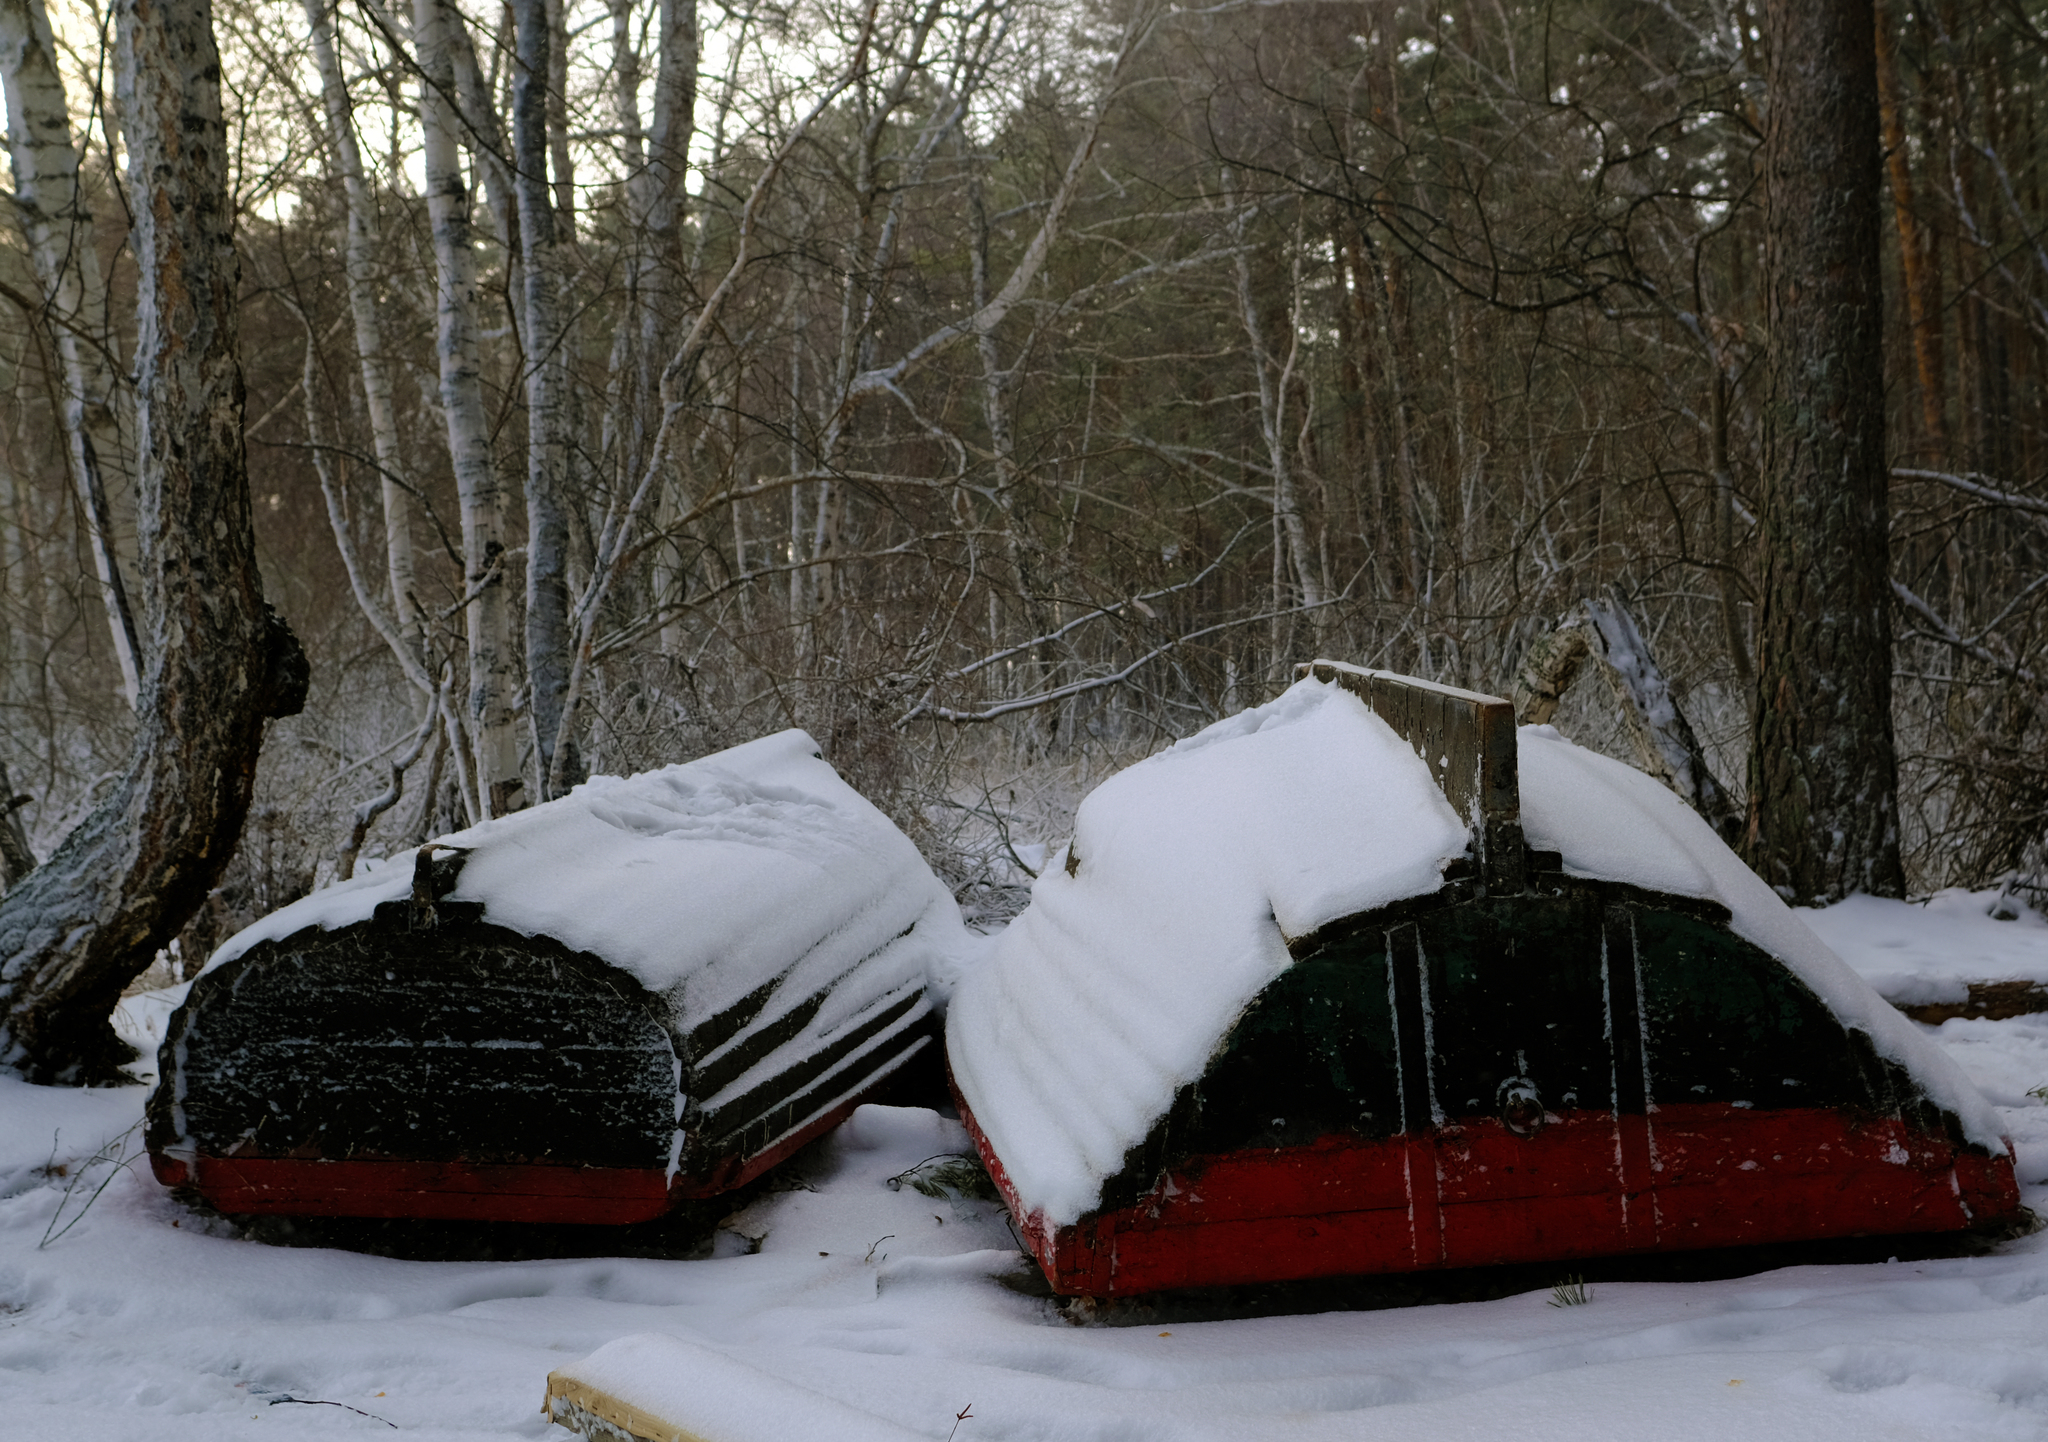
[[[121,987],[199,909],[250,807],[266,717],[305,655],[262,598],[242,451],[240,262],[207,0],[123,0],[139,264],[141,723],[127,774],[0,901],[0,1063],[115,1084]]]

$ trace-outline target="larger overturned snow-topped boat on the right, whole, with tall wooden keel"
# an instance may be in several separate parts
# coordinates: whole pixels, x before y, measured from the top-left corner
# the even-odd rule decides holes
[[[1675,795],[1303,670],[1090,795],[952,998],[1057,1292],[2021,1217],[1982,1096]]]

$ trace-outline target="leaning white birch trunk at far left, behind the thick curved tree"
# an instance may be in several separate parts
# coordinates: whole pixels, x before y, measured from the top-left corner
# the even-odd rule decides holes
[[[78,150],[72,145],[57,49],[43,0],[0,0],[0,88],[6,90],[14,209],[29,238],[43,305],[55,315],[51,332],[63,367],[63,438],[72,481],[106,608],[115,664],[121,668],[121,690],[133,707],[141,686],[135,619],[115,555],[104,477],[104,467],[121,461],[117,377],[106,350],[88,344],[74,330],[90,328],[88,305],[100,293],[100,264],[92,213],[78,184]],[[113,338],[104,340],[111,346]]]

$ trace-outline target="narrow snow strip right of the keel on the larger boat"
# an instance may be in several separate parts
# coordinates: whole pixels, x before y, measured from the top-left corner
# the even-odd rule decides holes
[[[1573,746],[1554,727],[1522,727],[1522,832],[1563,852],[1575,877],[1622,881],[1729,907],[1729,928],[1792,969],[1843,1026],[1866,1032],[1964,1135],[2003,1151],[1997,1112],[1954,1061],[1855,975],[1698,811],[1632,766]]]

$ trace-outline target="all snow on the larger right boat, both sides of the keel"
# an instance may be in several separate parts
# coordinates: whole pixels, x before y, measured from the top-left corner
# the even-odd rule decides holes
[[[1573,875],[1712,899],[1847,1026],[1907,1065],[1966,1135],[1997,1114],[1913,1022],[1845,967],[1659,782],[1520,731],[1522,823]],[[1288,965],[1286,938],[1442,887],[1468,834],[1413,748],[1319,680],[1106,780],[1030,909],[969,971],[952,1073],[1047,1225],[1096,1206],[1174,1092],[1206,1069]]]

